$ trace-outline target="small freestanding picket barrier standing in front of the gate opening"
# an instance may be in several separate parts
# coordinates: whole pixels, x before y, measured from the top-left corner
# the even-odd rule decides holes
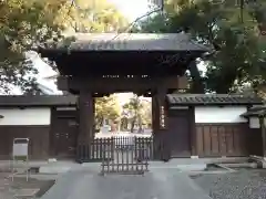
[[[103,143],[106,143],[106,146],[102,150],[102,175],[143,175],[149,170],[149,159],[152,156],[151,137],[113,137]]]

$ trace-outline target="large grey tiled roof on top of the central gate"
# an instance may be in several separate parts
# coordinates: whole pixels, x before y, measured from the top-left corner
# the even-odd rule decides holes
[[[75,33],[76,51],[209,51],[185,33]],[[60,44],[59,44],[60,48]]]

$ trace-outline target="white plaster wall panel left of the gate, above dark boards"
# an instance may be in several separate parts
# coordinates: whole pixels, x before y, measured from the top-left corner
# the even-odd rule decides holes
[[[0,108],[0,125],[50,125],[51,109],[43,108]]]

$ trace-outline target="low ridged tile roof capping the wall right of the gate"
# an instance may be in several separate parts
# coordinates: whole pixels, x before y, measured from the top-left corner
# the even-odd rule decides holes
[[[168,94],[171,105],[248,105],[263,104],[260,98],[226,94]]]

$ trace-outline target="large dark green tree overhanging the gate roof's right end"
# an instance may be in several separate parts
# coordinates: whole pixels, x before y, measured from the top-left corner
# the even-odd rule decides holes
[[[185,31],[192,39],[214,46],[216,52],[204,60],[205,75],[201,75],[195,62],[188,66],[193,92],[234,92],[235,85],[247,82],[256,85],[265,80],[266,45],[258,40],[257,27],[263,21],[262,10],[266,9],[260,6],[258,12],[255,6],[244,9],[233,3],[235,1],[167,1],[165,13],[142,22],[139,31]]]

